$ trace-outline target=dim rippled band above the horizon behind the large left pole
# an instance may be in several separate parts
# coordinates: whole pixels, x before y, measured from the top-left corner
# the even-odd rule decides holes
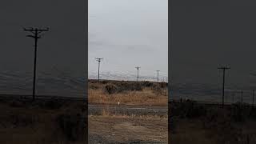
[[[86,79],[58,71],[38,72],[36,94],[83,97]],[[0,94],[32,94],[33,73],[22,71],[0,72]]]

